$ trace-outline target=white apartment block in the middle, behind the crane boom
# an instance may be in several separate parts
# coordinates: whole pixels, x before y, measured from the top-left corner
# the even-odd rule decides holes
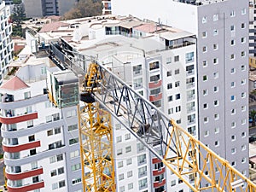
[[[39,41],[47,44],[62,37],[64,49],[97,56],[119,78],[198,137],[195,35],[133,17],[67,23],[70,26],[60,24],[54,32],[39,32]],[[63,58],[58,51],[55,55]],[[79,55],[76,62],[81,67],[90,63],[80,61]],[[189,190],[118,120],[113,119],[113,127],[117,191]]]

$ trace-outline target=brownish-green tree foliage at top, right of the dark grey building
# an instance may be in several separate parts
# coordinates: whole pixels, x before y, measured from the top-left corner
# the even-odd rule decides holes
[[[63,15],[62,20],[102,15],[101,0],[80,0],[73,9]]]

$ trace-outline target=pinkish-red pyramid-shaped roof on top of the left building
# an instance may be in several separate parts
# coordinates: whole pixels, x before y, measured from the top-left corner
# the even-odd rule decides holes
[[[0,86],[0,89],[3,90],[21,90],[29,87],[24,81],[22,81],[18,77],[14,77],[12,79],[9,79],[9,81],[5,82]]]

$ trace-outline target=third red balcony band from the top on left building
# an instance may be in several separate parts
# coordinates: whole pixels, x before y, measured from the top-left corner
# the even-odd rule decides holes
[[[39,167],[37,169],[28,170],[26,172],[7,172],[5,171],[5,176],[10,180],[20,180],[27,177],[33,177],[43,174],[43,167]]]

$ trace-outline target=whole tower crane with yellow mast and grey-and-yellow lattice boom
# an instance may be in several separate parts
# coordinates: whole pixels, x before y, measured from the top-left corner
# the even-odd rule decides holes
[[[52,47],[55,49],[55,44]],[[61,51],[55,49],[55,56],[61,55]],[[66,67],[71,63],[76,65],[67,55],[62,53],[58,58]],[[75,67],[70,67],[74,73]],[[191,190],[256,191],[256,184],[227,160],[207,148],[97,61],[91,61],[87,67],[80,100],[84,102],[84,107],[78,106],[84,191],[115,191],[111,117],[117,119]],[[90,173],[85,175],[84,169]],[[207,185],[201,186],[201,182]]]

